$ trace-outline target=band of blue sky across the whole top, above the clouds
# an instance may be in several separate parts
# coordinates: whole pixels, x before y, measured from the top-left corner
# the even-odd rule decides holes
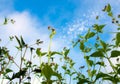
[[[7,4],[6,4],[7,3]],[[3,11],[27,11],[31,16],[37,17],[41,24],[52,25],[61,29],[78,19],[95,19],[104,5],[111,3],[119,5],[117,0],[1,0],[0,9]],[[117,8],[119,9],[119,8]],[[84,16],[85,15],[85,16]],[[93,17],[90,17],[93,15]],[[88,18],[90,17],[90,18]]]

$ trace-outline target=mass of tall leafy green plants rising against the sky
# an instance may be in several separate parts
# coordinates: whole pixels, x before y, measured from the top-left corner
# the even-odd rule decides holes
[[[112,23],[118,26],[117,30],[119,31],[120,24],[113,16],[110,4],[106,5],[103,11],[111,17]],[[118,15],[118,18],[120,18],[120,15]],[[96,16],[96,20],[99,20],[99,16]],[[15,22],[13,19],[5,18],[3,25],[7,25],[9,21],[12,24]],[[111,84],[120,83],[120,32],[114,32],[115,37],[113,37],[112,43],[106,42],[101,38],[106,25],[95,23],[84,35],[80,35],[77,41],[73,41],[73,47],[79,47],[80,55],[83,56],[81,60],[85,60],[85,65],[79,63],[80,67],[76,67],[76,60],[69,56],[71,49],[64,47],[60,52],[51,51],[52,39],[56,31],[50,26],[48,27],[48,30],[50,30],[48,51],[42,51],[39,44],[42,45],[43,41],[40,39],[30,45],[25,42],[22,36],[9,37],[10,42],[15,39],[18,43],[16,46],[18,52],[15,56],[11,56],[11,49],[0,46],[1,79],[3,81],[8,79],[8,84],[14,84],[15,82],[16,84],[32,84],[31,80],[34,81],[34,77],[42,79],[42,81],[39,81],[41,84],[72,84],[72,81],[76,84],[98,84],[100,81],[103,81],[103,83],[107,81]],[[34,45],[37,45],[37,47]],[[18,63],[16,57],[19,58],[20,63]],[[56,57],[60,58],[60,60],[57,60],[59,62],[56,62]],[[116,58],[117,64],[113,64],[111,58]],[[47,59],[47,61],[43,59]],[[39,63],[36,64],[33,60]],[[106,61],[108,61],[108,64]],[[16,70],[10,66],[14,66]],[[110,72],[105,71],[106,66],[111,68]],[[66,80],[69,80],[69,83]]]

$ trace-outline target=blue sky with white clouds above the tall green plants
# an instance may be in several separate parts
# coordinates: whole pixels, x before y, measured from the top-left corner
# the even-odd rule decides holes
[[[110,19],[101,11],[108,3],[115,14],[120,13],[120,0],[0,0],[0,22],[4,17],[16,21],[14,25],[2,26],[0,37],[5,41],[5,36],[23,35],[29,43],[40,38],[45,41],[41,47],[46,50],[49,42],[47,27],[52,26],[57,31],[52,49],[61,50],[64,46],[70,47],[70,41],[96,23],[97,15],[101,18],[98,23],[111,24],[108,22]],[[110,25],[106,30],[109,28]],[[84,64],[78,49],[73,49],[71,56],[73,60]]]

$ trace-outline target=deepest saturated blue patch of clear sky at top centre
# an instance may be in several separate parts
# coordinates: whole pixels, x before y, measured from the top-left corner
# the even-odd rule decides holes
[[[58,25],[64,24],[70,18],[73,19],[74,10],[76,9],[76,5],[67,0],[22,0],[21,2],[23,3],[15,1],[16,10],[28,10],[42,19],[44,23],[46,23],[45,21],[50,21]]]

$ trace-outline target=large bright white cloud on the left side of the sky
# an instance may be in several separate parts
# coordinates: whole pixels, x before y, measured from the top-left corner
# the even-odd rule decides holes
[[[32,43],[35,42],[36,39],[41,39],[44,41],[45,46],[44,50],[49,43],[49,31],[47,30],[47,26],[41,25],[41,23],[35,18],[31,16],[29,12],[14,12],[8,15],[8,18],[14,19],[16,22],[14,24],[7,24],[5,26],[1,26],[0,36],[3,37],[3,40],[6,40],[4,37],[9,37],[13,35],[23,36],[25,41]],[[53,49],[59,49],[63,43],[58,41],[59,38],[55,38],[53,40]],[[59,44],[59,46],[57,45]]]

